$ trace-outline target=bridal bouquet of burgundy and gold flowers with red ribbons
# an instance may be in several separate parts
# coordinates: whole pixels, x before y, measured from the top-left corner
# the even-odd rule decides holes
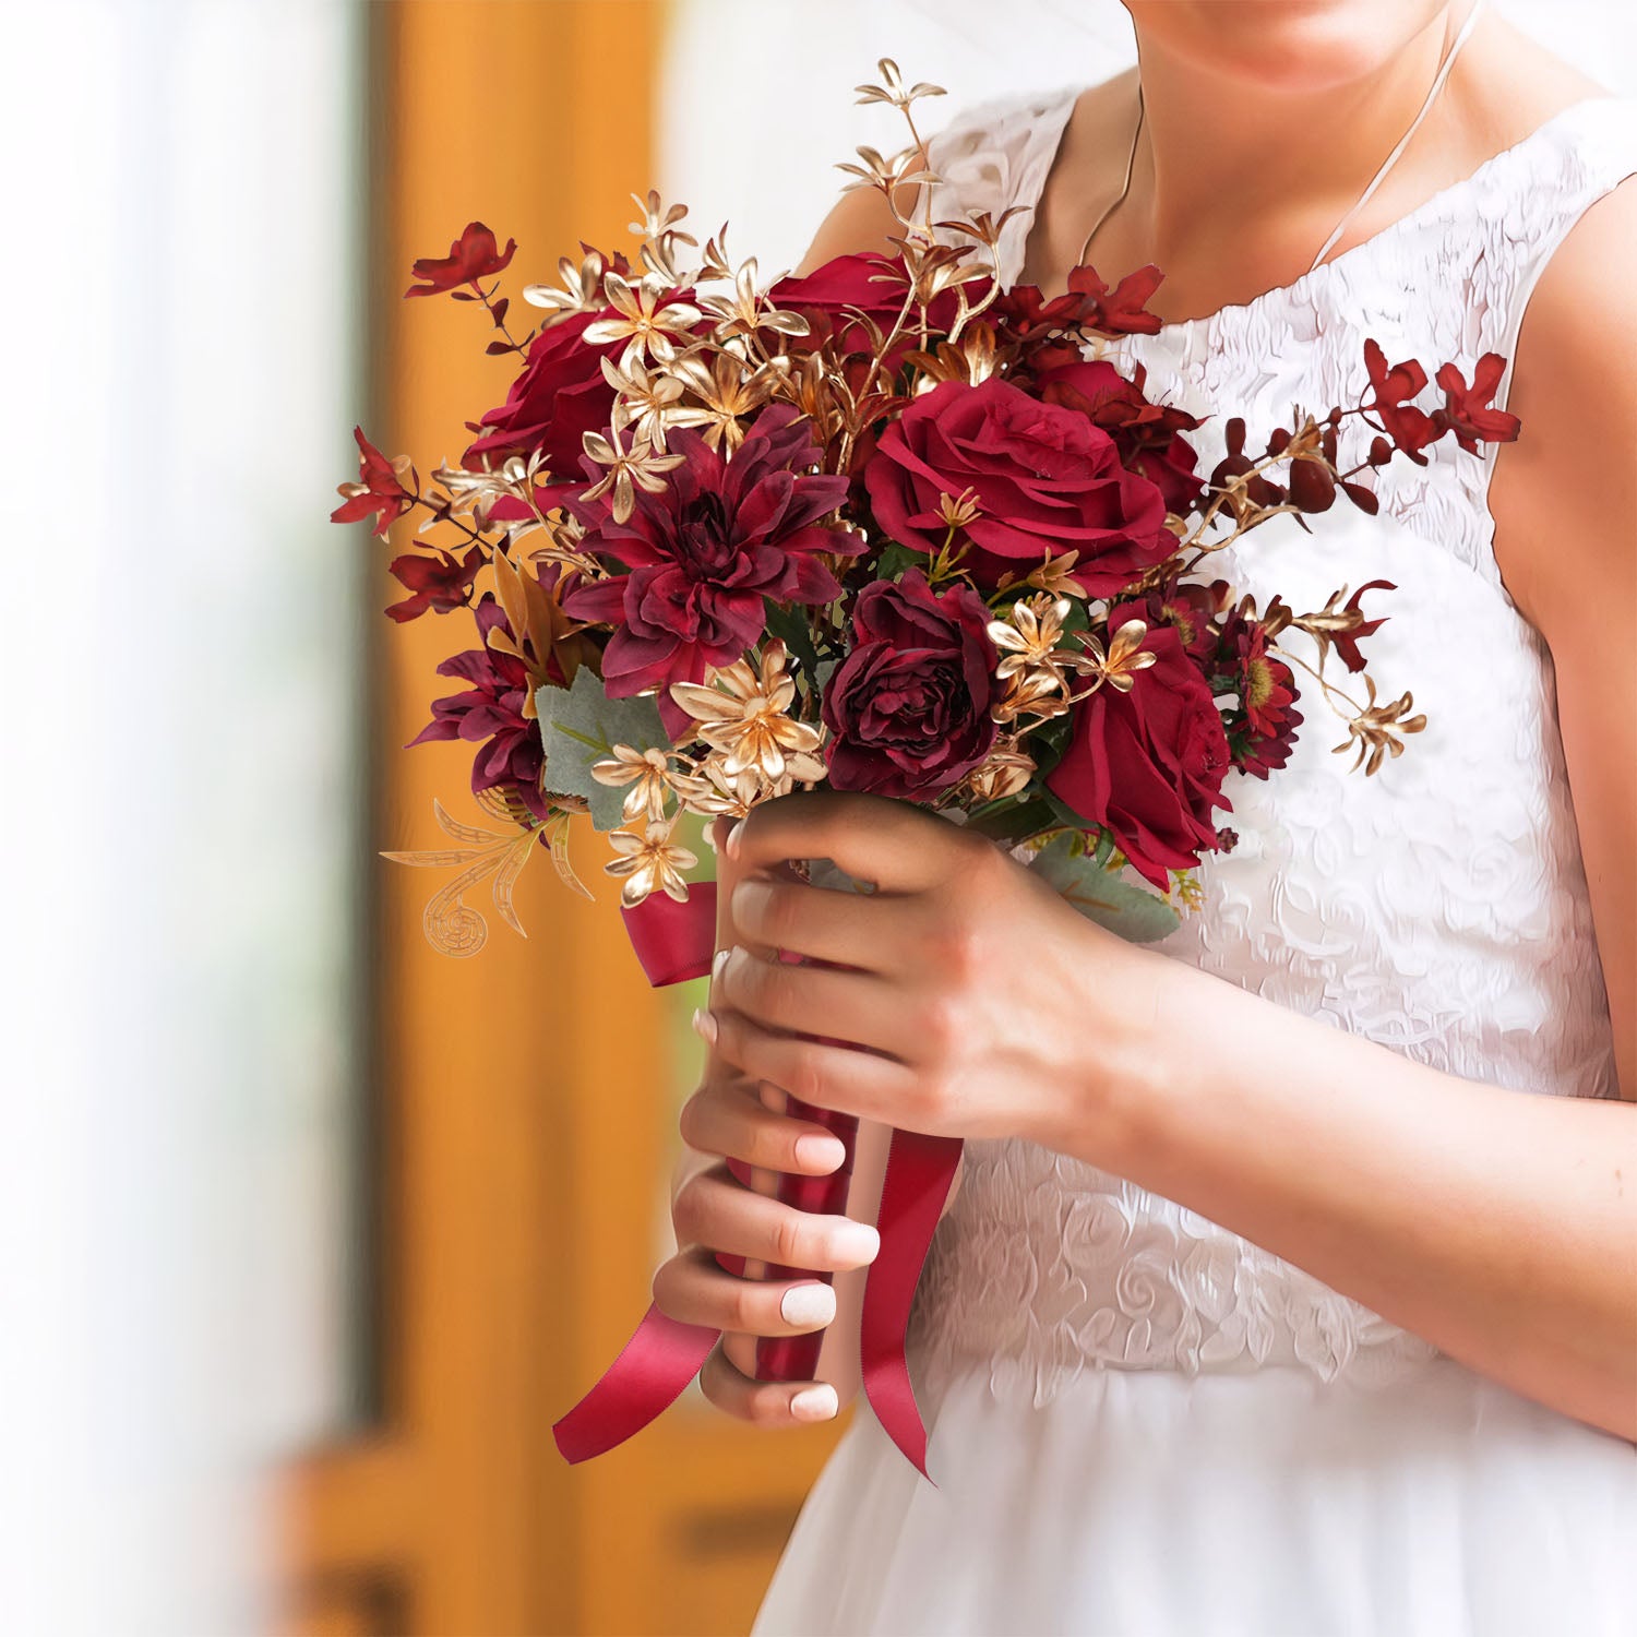
[[[462,846],[388,855],[457,871],[426,917],[452,954],[483,943],[463,895],[485,881],[517,927],[511,887],[537,846],[584,891],[568,838],[588,815],[650,976],[694,976],[714,910],[689,882],[683,815],[743,815],[820,784],[956,817],[1085,913],[1157,938],[1202,909],[1193,871],[1236,841],[1216,818],[1231,812],[1228,774],[1278,773],[1303,689],[1337,712],[1336,750],[1365,774],[1424,724],[1408,691],[1382,699],[1362,674],[1360,642],[1382,624],[1364,596],[1388,581],[1259,609],[1211,575],[1211,557],[1272,517],[1306,525],[1337,501],[1373,512],[1370,471],[1424,463],[1441,437],[1472,452],[1514,437],[1517,422],[1488,408],[1501,360],[1485,355],[1470,385],[1445,363],[1444,401],[1424,409],[1423,367],[1388,367],[1370,342],[1355,403],[1293,409],[1256,444],[1229,417],[1224,458],[1202,471],[1188,442],[1200,419],[1151,399],[1121,345],[1159,331],[1159,272],[1110,286],[1079,267],[1054,300],[1002,288],[1012,211],[899,211],[935,180],[912,106],[938,88],[905,87],[882,62],[859,92],[897,108],[912,138],[897,157],[864,147],[841,167],[894,208],[894,255],[764,282],[755,259],[728,257],[725,229],[701,250],[683,206],[650,193],[637,262],[583,246],[557,285],[522,288],[540,316],[521,339],[498,295],[514,241],[501,250],[473,223],[447,257],[414,264],[408,295],[481,304],[488,350],[516,372],[431,486],[359,429],[360,476],[332,514],[372,517],[385,539],[424,511],[417,534],[437,539],[391,561],[408,596],[386,612],[465,611],[476,627],[439,666],[458,688],[416,743],[468,742],[473,794],[501,828],[439,805]],[[1349,421],[1369,437],[1346,465]],[[1337,665],[1360,673],[1362,699]],[[900,1187],[917,1179],[917,1139],[899,1138],[889,1188],[894,1166]],[[928,1166],[922,1180],[946,1188],[948,1156]],[[887,1277],[889,1218],[884,1198],[871,1283]],[[917,1220],[910,1292],[927,1234]],[[902,1336],[895,1287],[884,1315],[866,1287],[866,1355],[894,1351],[873,1347],[873,1315]],[[696,1331],[650,1311],[560,1423],[565,1454],[606,1449],[670,1403],[715,1339]],[[768,1344],[763,1375],[812,1373],[818,1337],[794,1341]],[[866,1369],[873,1403],[881,1380]],[[904,1429],[900,1406],[889,1431],[917,1459],[918,1421]]]

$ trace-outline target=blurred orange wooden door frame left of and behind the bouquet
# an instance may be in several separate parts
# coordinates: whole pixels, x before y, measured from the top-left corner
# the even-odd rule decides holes
[[[409,264],[470,219],[519,250],[524,283],[584,237],[629,247],[652,180],[660,0],[377,0],[370,20],[365,431],[426,475],[458,458],[462,422],[499,403],[481,308],[403,301]],[[365,231],[360,223],[360,232]],[[350,417],[336,406],[337,447]],[[378,848],[442,843],[439,796],[467,794],[470,750],[404,745],[427,720],[465,614],[390,627],[391,548],[367,537]],[[291,1473],[291,1626],[303,1632],[681,1634],[748,1629],[800,1496],[838,1427],[730,1424],[692,1393],[581,1467],[550,1423],[601,1373],[648,1301],[655,1202],[673,1154],[670,1018],[625,946],[602,853],[576,835],[588,905],[543,853],[517,910],[470,959],[421,930],[444,879],[373,863],[373,1262],[378,1424]],[[470,894],[488,909],[486,887]],[[360,1329],[367,1316],[359,1315]]]

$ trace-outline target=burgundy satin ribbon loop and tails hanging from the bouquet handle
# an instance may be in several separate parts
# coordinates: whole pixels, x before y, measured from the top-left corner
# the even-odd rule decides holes
[[[710,971],[715,953],[712,882],[691,886],[684,904],[655,894],[620,913],[637,959],[656,989],[704,977]],[[959,1161],[959,1138],[892,1133],[876,1218],[881,1251],[864,1275],[859,1318],[864,1396],[887,1437],[928,1483],[927,1427],[910,1385],[904,1339],[915,1287]],[[728,1161],[728,1169],[740,1182],[750,1184],[748,1166]],[[719,1254],[717,1262],[730,1274],[745,1272],[742,1256]],[[552,1436],[563,1459],[571,1463],[589,1460],[640,1432],[676,1403],[720,1334],[706,1324],[679,1324],[650,1305],[601,1380],[553,1424]]]

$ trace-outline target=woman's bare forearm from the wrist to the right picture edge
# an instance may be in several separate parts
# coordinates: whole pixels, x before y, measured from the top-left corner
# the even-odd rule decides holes
[[[1444,1074],[1190,967],[1156,1013],[1116,1152],[1090,1097],[1054,1148],[1637,1442],[1637,1107]]]

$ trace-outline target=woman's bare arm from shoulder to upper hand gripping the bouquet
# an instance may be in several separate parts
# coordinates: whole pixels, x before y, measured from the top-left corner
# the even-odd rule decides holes
[[[1534,295],[1511,398],[1526,435],[1491,496],[1506,584],[1557,666],[1626,1098],[1637,385],[1609,360],[1637,354],[1637,301],[1611,272],[1634,260],[1627,187],[1586,214]],[[707,1023],[728,1061],[866,1118],[1021,1134],[1128,1175],[1472,1369],[1637,1441],[1637,1108],[1426,1067],[1126,946],[954,827],[897,804],[851,810],[859,800],[792,797],[735,838],[746,869],[830,856],[889,891],[853,900],[848,927],[812,889],[737,891],[748,938],[866,966],[735,953]],[[868,1053],[791,1033],[814,1020]]]

